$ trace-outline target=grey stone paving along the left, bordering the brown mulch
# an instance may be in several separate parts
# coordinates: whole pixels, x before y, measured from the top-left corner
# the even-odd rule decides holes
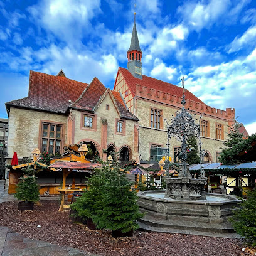
[[[50,200],[51,198],[42,198]],[[0,203],[16,200],[4,189],[4,181],[0,181]],[[1,209],[1,205],[0,205]],[[3,217],[3,216],[2,216]],[[86,256],[82,250],[55,245],[40,240],[31,240],[14,232],[8,227],[0,227],[0,255],[1,256]],[[90,256],[93,256],[90,254]],[[97,255],[94,255],[97,256]]]

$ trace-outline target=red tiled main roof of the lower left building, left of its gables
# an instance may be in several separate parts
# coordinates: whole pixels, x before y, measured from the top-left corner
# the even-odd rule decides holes
[[[28,97],[6,102],[6,105],[65,113],[70,105],[68,100],[77,100],[87,86],[65,77],[31,71]]]

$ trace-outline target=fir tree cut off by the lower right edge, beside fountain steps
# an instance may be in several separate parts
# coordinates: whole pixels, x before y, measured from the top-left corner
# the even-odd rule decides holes
[[[256,246],[256,189],[247,192],[247,200],[243,200],[241,206],[230,220],[237,233]]]

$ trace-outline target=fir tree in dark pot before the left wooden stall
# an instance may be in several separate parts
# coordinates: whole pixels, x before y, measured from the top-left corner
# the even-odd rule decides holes
[[[14,196],[18,200],[22,200],[18,202],[18,210],[33,210],[34,202],[39,200],[36,176],[34,175],[34,169],[31,166],[23,168],[23,171],[23,176],[17,184],[16,194]]]

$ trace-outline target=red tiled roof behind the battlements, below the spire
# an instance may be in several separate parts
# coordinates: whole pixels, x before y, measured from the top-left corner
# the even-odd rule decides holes
[[[177,85],[173,85],[171,83],[167,83],[152,77],[147,77],[146,75],[142,75],[142,79],[134,77],[126,68],[119,67],[120,72],[124,76],[125,81],[133,96],[136,93],[136,84],[141,85],[147,88],[152,88],[156,91],[170,93],[170,95],[176,95],[177,97],[182,97],[183,95],[183,88],[178,87]],[[193,100],[195,102],[200,102],[204,104],[198,97],[193,95],[193,93],[185,90],[185,97],[186,99]]]

